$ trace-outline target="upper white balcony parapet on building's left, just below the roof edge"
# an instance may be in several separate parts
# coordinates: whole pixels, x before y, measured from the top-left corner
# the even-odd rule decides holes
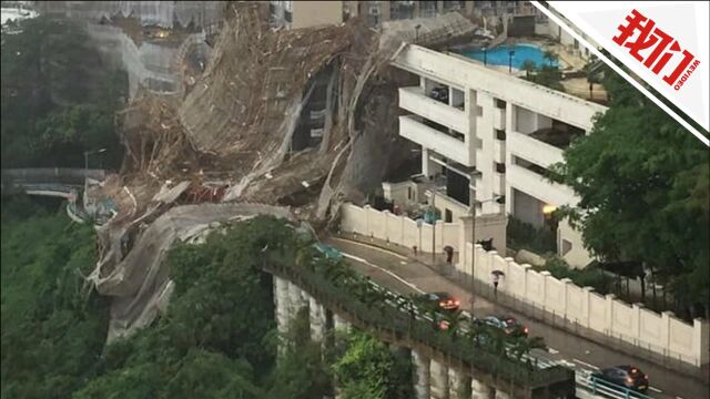
[[[457,132],[468,134],[466,113],[424,95],[419,86],[399,88],[399,108]]]

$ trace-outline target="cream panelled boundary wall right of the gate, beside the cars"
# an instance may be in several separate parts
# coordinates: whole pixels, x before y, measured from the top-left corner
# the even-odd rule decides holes
[[[471,245],[466,244],[470,256]],[[470,274],[470,269],[457,267]],[[497,252],[476,245],[475,278],[490,282],[495,269],[505,273],[498,289],[538,309],[555,314],[581,327],[643,347],[684,362],[701,366],[710,361],[710,323],[694,319],[689,325],[672,311],[657,314],[641,304],[626,304],[613,295],[601,296],[591,287],[578,287],[568,278],[557,279],[549,272],[535,272]]]

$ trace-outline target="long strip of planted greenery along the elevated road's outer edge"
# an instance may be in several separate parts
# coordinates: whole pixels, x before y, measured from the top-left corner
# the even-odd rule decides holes
[[[469,372],[475,369],[494,387],[516,397],[532,397],[541,390],[568,395],[574,390],[574,370],[565,366],[535,367],[534,361],[508,357],[493,347],[478,347],[468,341],[460,327],[440,331],[438,316],[444,315],[420,308],[408,297],[362,276],[351,276],[348,267],[336,263],[298,265],[283,262],[284,255],[270,254],[272,262],[266,259],[264,268],[298,285],[331,310],[348,315],[351,323],[381,339],[422,347],[432,356],[444,357],[449,366]]]

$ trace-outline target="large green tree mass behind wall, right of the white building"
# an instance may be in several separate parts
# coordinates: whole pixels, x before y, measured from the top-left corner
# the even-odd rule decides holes
[[[615,73],[604,83],[609,110],[555,167],[581,197],[565,214],[601,260],[645,263],[679,315],[710,316],[708,150]]]

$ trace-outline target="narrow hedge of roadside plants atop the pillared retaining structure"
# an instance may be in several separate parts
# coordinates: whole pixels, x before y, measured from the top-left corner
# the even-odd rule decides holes
[[[478,348],[465,338],[464,331],[460,329],[457,332],[454,332],[455,330],[440,331],[436,327],[439,321],[437,316],[434,320],[429,311],[418,308],[409,298],[393,293],[372,280],[367,282],[368,288],[366,290],[369,293],[363,296],[348,289],[349,283],[344,283],[348,279],[347,277],[345,280],[342,277],[333,280],[332,277],[322,275],[327,274],[327,270],[312,270],[315,266],[292,265],[273,257],[271,260],[267,262],[273,265],[268,267],[272,268],[270,273],[277,272],[283,278],[298,285],[332,310],[354,316],[357,320],[356,324],[361,327],[365,326],[408,342],[425,345],[429,350],[444,354],[449,364],[465,365],[464,367],[486,372],[506,387],[537,389],[574,379],[574,371],[562,365],[546,364],[545,367],[535,367],[534,361],[526,361],[527,358],[517,360],[508,357],[507,354]],[[353,288],[362,290],[362,286],[358,284],[355,284]],[[382,299],[366,304],[363,298]]]

